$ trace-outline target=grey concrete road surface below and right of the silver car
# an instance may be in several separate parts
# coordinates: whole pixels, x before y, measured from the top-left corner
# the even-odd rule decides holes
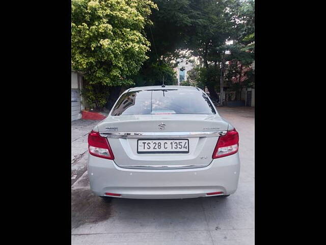
[[[91,193],[85,172],[71,188],[72,244],[254,244],[254,109],[218,109],[240,135],[240,179],[234,194],[105,203]]]

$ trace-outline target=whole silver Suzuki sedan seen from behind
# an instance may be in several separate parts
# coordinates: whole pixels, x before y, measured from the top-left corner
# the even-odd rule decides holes
[[[200,88],[130,88],[88,136],[91,189],[106,199],[227,197],[238,185],[238,142]]]

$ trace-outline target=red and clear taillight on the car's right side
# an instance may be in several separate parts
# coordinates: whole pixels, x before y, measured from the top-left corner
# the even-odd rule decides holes
[[[238,148],[239,134],[235,129],[229,130],[226,135],[219,137],[212,158],[232,155],[238,151]]]

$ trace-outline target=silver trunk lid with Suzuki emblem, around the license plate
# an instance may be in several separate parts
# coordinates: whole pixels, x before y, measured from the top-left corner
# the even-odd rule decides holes
[[[108,137],[114,161],[120,167],[193,168],[210,164],[219,137],[216,131],[227,131],[228,122],[216,114],[120,115],[107,117],[98,130]],[[188,139],[189,152],[139,154],[139,139]]]

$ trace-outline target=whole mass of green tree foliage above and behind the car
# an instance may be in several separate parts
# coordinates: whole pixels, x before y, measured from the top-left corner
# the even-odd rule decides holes
[[[187,49],[200,58],[202,67],[192,70],[191,81],[197,78],[215,99],[222,54],[231,50],[225,61],[233,64],[253,61],[254,0],[153,2],[72,0],[72,67],[83,72],[93,88],[95,84],[160,85],[163,80],[176,84],[173,68],[178,63],[174,61]],[[226,46],[226,40],[235,40],[234,45]],[[226,70],[227,82],[236,72],[237,67]],[[253,82],[252,77],[248,80]],[[104,94],[101,105],[103,98]]]

